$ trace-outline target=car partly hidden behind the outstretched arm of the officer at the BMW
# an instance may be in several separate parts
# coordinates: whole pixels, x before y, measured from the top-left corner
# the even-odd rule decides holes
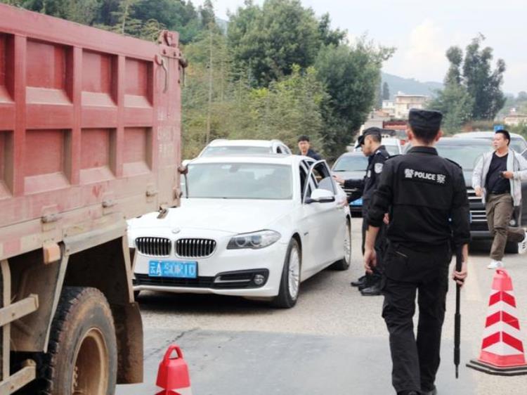
[[[341,179],[363,179],[366,174],[367,157],[360,151],[344,153],[334,162],[332,172]],[[356,188],[344,188],[348,196],[349,209],[353,213],[362,213],[363,198],[362,193]]]

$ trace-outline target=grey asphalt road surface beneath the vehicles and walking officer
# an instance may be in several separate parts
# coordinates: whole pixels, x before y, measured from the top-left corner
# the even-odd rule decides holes
[[[177,343],[190,368],[193,395],[389,395],[391,360],[382,297],[361,297],[349,281],[362,273],[360,221],[353,219],[349,271],[323,271],[301,285],[294,309],[277,310],[245,299],[208,295],[141,295],[145,382],[118,386],[117,395],[154,395],[157,366]],[[455,287],[443,327],[440,395],[525,395],[527,377],[497,377],[464,366],[479,356],[493,271],[488,245],[473,245],[462,291],[460,378],[453,367]],[[527,347],[527,257],[505,257],[513,278]]]

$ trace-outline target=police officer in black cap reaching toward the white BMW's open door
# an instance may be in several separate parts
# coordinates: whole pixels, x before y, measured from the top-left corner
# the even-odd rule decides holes
[[[344,188],[357,188],[362,191],[363,196],[363,253],[365,235],[367,230],[367,210],[370,206],[370,201],[373,193],[377,189],[379,179],[381,176],[384,162],[390,157],[388,151],[382,143],[382,130],[377,127],[370,127],[358,137],[357,145],[363,150],[363,154],[367,157],[366,174],[363,179],[359,180],[344,180],[339,176],[334,176],[335,181],[344,185]],[[382,256],[386,250],[386,239],[384,238],[384,230],[386,226],[383,224],[379,230],[379,238],[375,240],[375,252],[377,252],[377,266],[373,269],[372,274],[366,273],[365,276],[352,281],[353,287],[358,287],[363,296],[376,296],[381,294],[381,275],[382,275]]]

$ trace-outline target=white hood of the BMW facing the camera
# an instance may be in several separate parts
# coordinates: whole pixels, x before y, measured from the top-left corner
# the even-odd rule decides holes
[[[164,218],[157,218],[159,212],[145,214],[129,220],[129,227],[134,232],[178,228],[249,233],[270,228],[292,207],[292,200],[183,199]]]

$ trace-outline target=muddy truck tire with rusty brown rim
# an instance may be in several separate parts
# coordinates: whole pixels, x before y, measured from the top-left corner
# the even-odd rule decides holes
[[[39,395],[113,395],[117,340],[112,311],[102,292],[65,287],[51,325]]]

